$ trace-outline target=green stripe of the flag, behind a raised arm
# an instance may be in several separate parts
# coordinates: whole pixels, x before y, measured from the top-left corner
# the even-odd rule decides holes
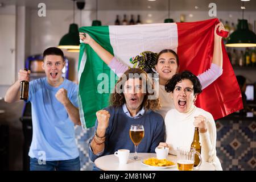
[[[109,27],[81,27],[80,32],[87,32],[96,42],[113,54],[113,48],[110,45]],[[90,46],[82,43],[79,57],[79,68],[83,52],[86,49],[86,63],[79,80],[79,96],[81,98],[82,110],[84,111],[84,120],[86,128],[93,127],[96,121],[96,111],[109,105],[109,96],[113,88],[108,81],[109,92],[100,94],[97,91],[98,84],[102,80],[97,80],[100,73],[106,73],[110,78],[110,68],[98,57],[96,52]],[[113,54],[114,55],[114,54]]]

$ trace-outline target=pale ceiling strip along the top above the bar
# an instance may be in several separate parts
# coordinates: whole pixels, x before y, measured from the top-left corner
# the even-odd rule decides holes
[[[85,1],[84,10],[95,10],[96,0]],[[44,2],[46,9],[72,10],[72,0],[0,0],[3,5],[26,5],[38,9],[38,4]],[[175,11],[207,11],[209,3],[216,3],[217,11],[240,11],[240,0],[170,0],[170,10]],[[195,6],[198,9],[195,9]],[[256,11],[256,0],[245,2],[246,11]],[[1,8],[1,7],[0,7]],[[168,0],[98,0],[98,10],[168,10]]]

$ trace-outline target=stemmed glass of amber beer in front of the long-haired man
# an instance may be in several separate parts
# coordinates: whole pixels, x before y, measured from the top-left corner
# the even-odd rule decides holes
[[[131,141],[133,141],[135,146],[135,154],[133,158],[131,158],[131,160],[140,160],[140,158],[138,158],[137,150],[138,150],[139,143],[141,143],[141,140],[144,137],[143,125],[131,125],[129,134],[130,134]]]

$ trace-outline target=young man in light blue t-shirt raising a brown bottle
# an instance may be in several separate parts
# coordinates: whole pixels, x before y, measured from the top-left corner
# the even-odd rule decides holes
[[[46,77],[30,81],[30,71],[20,70],[18,80],[6,92],[5,101],[20,101],[20,81],[30,81],[27,100],[31,102],[33,126],[28,153],[30,170],[80,170],[74,131],[74,125],[81,125],[78,86],[61,76],[65,66],[61,49],[47,48],[43,59]]]

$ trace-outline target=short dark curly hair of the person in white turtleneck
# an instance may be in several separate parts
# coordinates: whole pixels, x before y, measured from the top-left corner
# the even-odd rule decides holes
[[[184,79],[188,79],[192,82],[194,95],[200,94],[202,92],[202,85],[199,81],[199,78],[197,78],[197,76],[193,75],[193,73],[189,71],[177,73],[170,80],[168,80],[165,85],[166,92],[174,92],[174,88],[177,82],[181,82],[181,80]]]

